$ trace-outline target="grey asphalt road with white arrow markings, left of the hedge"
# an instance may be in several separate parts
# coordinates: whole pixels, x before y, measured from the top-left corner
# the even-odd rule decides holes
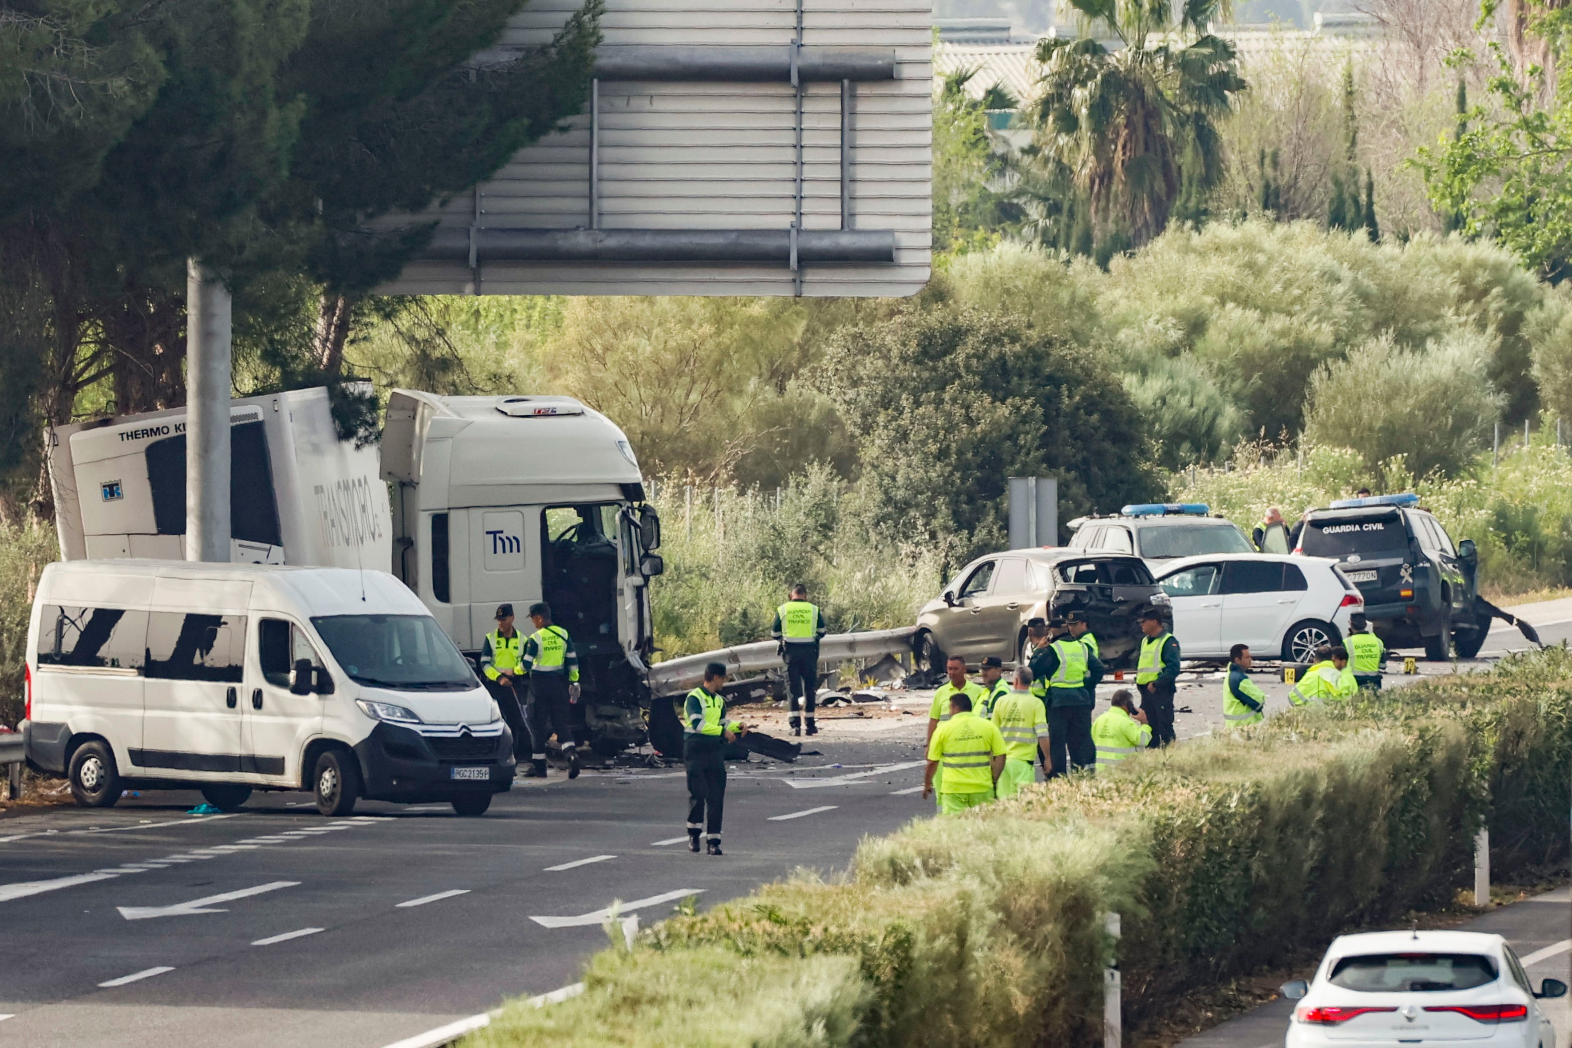
[[[1547,643],[1572,635],[1572,600],[1528,617]],[[1519,647],[1504,627],[1486,654]],[[1286,707],[1286,685],[1259,679]],[[1118,687],[1099,688],[1099,709]],[[800,866],[843,869],[863,834],[931,812],[916,792],[927,698],[891,699],[824,710],[821,756],[734,767],[722,858],[687,852],[681,770],[519,781],[479,819],[362,803],[330,820],[303,793],[256,795],[234,815],[189,815],[201,798],[171,792],[9,812],[0,1043],[382,1048],[555,990],[605,943],[601,911],[616,902],[659,919],[684,896],[714,905]],[[1182,738],[1217,731],[1221,679],[1187,674],[1177,704]]]

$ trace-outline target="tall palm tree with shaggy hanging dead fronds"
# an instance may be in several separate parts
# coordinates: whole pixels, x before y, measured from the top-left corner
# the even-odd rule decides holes
[[[1229,0],[1064,0],[1080,39],[1038,46],[1034,152],[1067,170],[1099,240],[1146,244],[1223,176],[1217,124],[1247,90],[1234,47],[1207,24]],[[1113,44],[1110,49],[1097,36]]]

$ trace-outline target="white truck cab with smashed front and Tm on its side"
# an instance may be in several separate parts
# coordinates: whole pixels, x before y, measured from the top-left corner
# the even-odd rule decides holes
[[[468,655],[498,603],[552,606],[578,649],[586,735],[645,738],[660,520],[627,437],[561,396],[396,390],[382,434],[393,573]]]

